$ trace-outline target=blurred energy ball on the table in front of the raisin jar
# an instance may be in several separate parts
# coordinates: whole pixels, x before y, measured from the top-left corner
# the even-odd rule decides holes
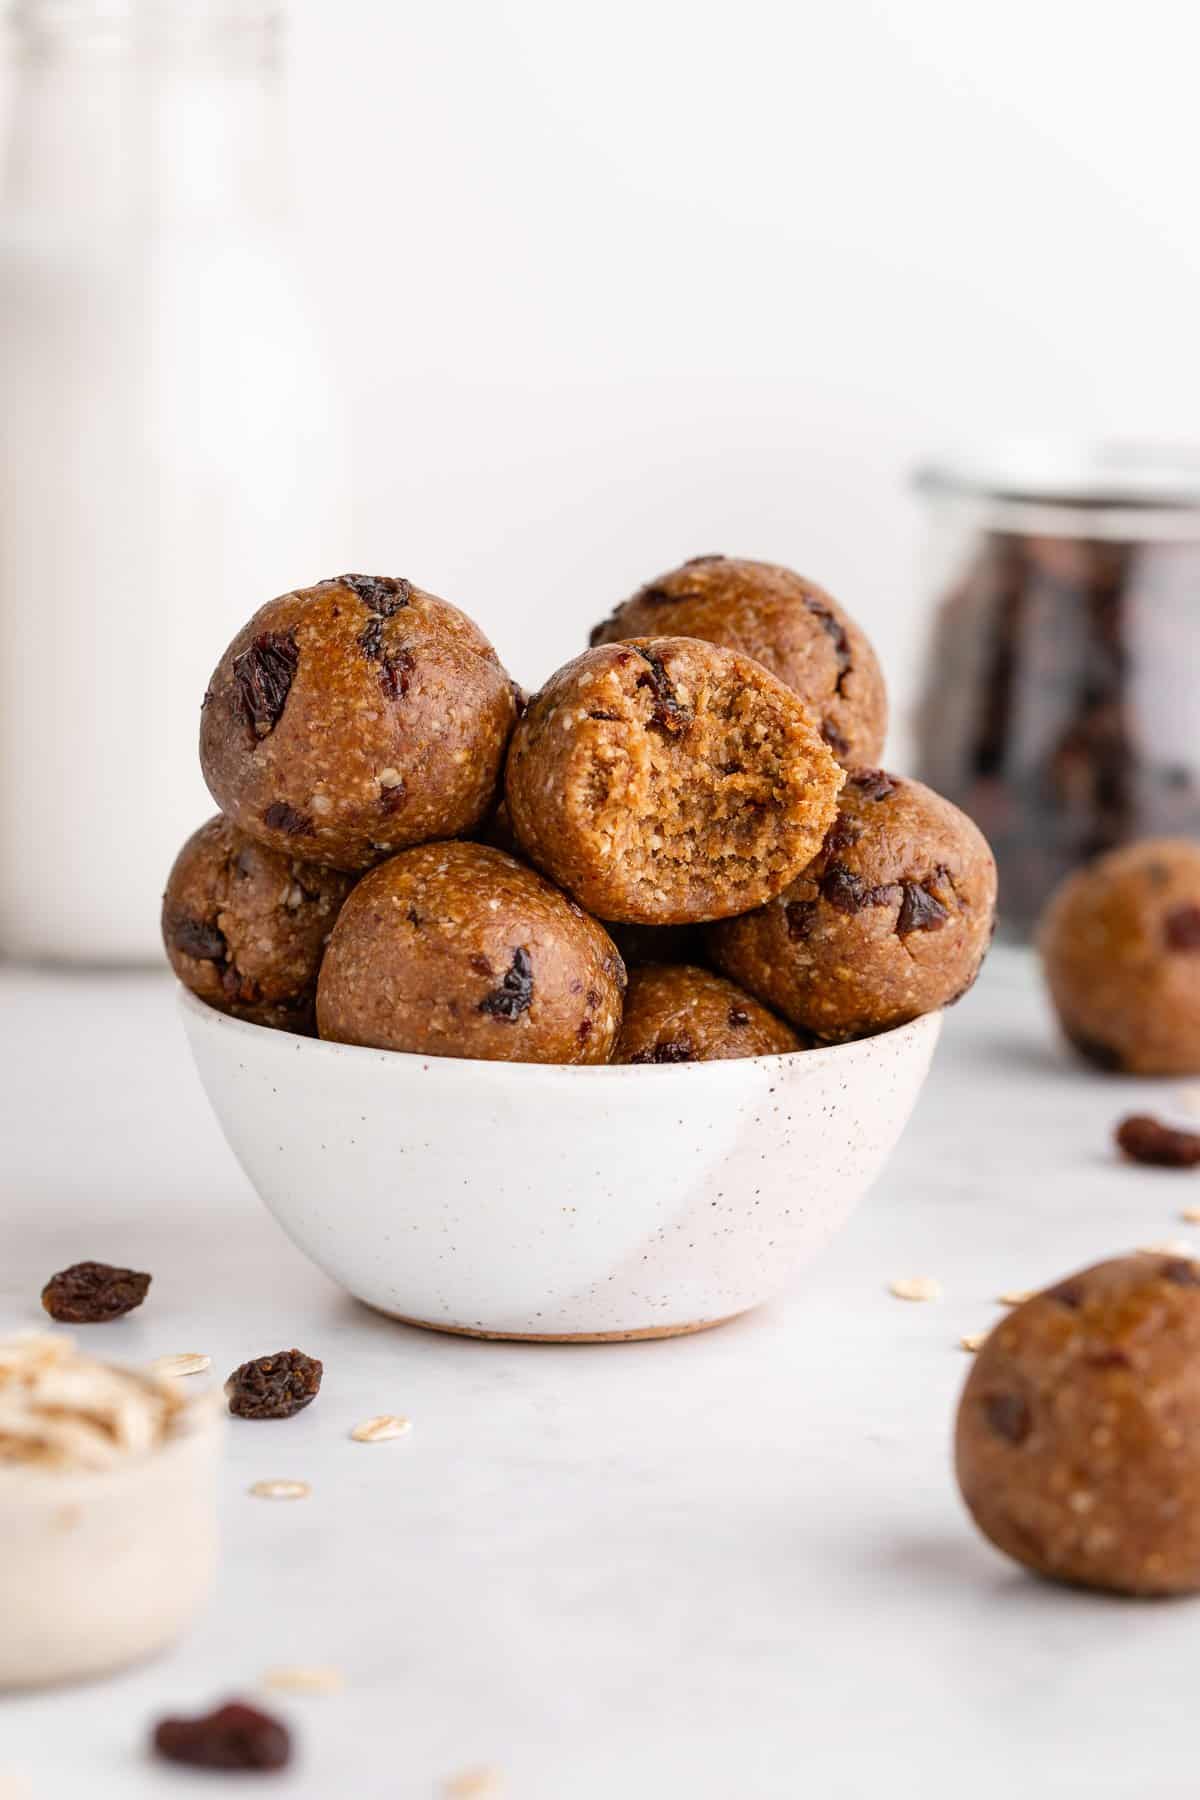
[[[1070,875],[1038,925],[1069,1042],[1101,1069],[1200,1073],[1200,844],[1155,837]]]

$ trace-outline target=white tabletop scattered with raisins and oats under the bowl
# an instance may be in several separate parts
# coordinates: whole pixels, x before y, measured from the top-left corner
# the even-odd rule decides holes
[[[144,1744],[164,1710],[254,1699],[279,1663],[345,1676],[336,1697],[266,1697],[299,1739],[281,1796],[426,1800],[479,1764],[507,1800],[1200,1791],[1200,1602],[1027,1579],[950,1476],[959,1334],[1007,1287],[1187,1237],[1200,1197],[1114,1159],[1114,1118],[1159,1084],[1072,1066],[1016,952],[950,1015],[889,1170],[784,1303],[615,1346],[437,1337],[344,1298],[225,1148],[166,979],[0,970],[0,1328],[36,1325],[45,1276],[97,1256],[155,1276],[140,1312],[85,1334],[108,1354],[326,1361],[308,1411],[228,1433],[221,1573],[189,1638],[0,1701],[13,1791],[266,1791]],[[945,1300],[891,1298],[898,1274]],[[381,1411],[414,1431],[349,1442]],[[252,1499],[259,1476],[313,1494]]]

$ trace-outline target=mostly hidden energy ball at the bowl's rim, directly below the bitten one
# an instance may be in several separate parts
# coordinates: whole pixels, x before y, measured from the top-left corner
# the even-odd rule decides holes
[[[678,963],[630,970],[613,1062],[723,1062],[802,1049],[795,1031],[732,981]]]

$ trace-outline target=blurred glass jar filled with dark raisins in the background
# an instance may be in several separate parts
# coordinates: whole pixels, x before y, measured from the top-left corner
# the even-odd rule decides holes
[[[936,614],[918,763],[988,833],[1000,920],[1137,837],[1200,837],[1200,448],[1009,452],[918,486]]]

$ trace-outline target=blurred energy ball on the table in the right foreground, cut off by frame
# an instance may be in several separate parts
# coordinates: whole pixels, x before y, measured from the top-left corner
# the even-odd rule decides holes
[[[955,1463],[975,1525],[1038,1575],[1200,1589],[1200,1265],[1121,1256],[1011,1312],[968,1375]]]

